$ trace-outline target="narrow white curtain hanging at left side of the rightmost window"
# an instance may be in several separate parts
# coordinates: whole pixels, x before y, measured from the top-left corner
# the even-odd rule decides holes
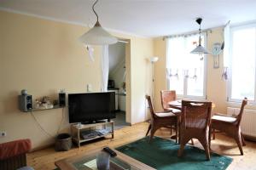
[[[228,68],[230,64],[230,21],[224,27],[224,71],[222,78],[228,79]]]

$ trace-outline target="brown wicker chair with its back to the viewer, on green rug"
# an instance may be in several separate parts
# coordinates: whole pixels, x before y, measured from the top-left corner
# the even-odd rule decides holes
[[[182,120],[180,125],[180,148],[177,156],[183,155],[185,144],[195,138],[200,141],[210,160],[209,124],[211,119],[212,102],[182,100]]]

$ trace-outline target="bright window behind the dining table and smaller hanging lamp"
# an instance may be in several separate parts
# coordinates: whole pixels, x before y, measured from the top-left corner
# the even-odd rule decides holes
[[[206,58],[190,54],[199,35],[173,37],[167,40],[166,75],[168,88],[176,90],[179,97],[206,98]],[[202,44],[206,47],[206,36]]]

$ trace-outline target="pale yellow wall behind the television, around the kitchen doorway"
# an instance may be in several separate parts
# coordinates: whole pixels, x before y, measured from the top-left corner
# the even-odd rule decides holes
[[[43,96],[57,98],[61,88],[67,93],[84,93],[86,84],[100,91],[101,48],[95,47],[95,62],[78,42],[87,29],[61,22],[42,20],[22,14],[0,11],[0,131],[7,136],[0,143],[14,139],[32,139],[32,147],[52,144],[61,123],[62,110],[33,112],[37,121],[50,136],[42,131],[30,113],[18,110],[17,96],[26,88],[33,99]],[[153,55],[153,40],[115,34],[129,39],[131,51],[126,54],[127,120],[136,123],[145,120],[144,103],[146,72],[144,59]],[[67,109],[64,110],[61,132],[69,130]]]

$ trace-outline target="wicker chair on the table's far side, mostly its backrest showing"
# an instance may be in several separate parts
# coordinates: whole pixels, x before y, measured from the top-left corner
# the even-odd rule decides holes
[[[174,101],[177,99],[175,90],[161,90],[161,104],[165,111],[172,111],[172,108],[168,105],[170,101]]]

